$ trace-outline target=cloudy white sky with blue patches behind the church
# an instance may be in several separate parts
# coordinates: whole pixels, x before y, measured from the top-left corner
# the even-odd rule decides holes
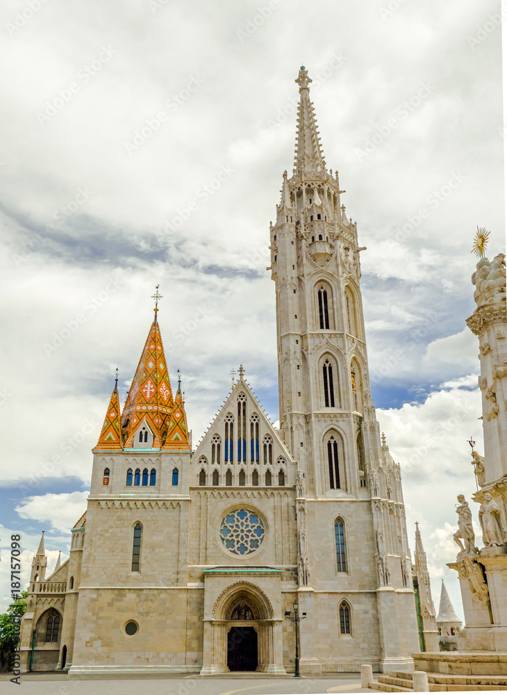
[[[32,9],[31,9],[32,8]],[[35,8],[35,9],[33,9]],[[194,441],[243,363],[278,420],[269,220],[292,169],[297,76],[358,222],[381,428],[433,598],[460,612],[456,494],[482,451],[470,254],[505,250],[497,0],[6,0],[0,8],[3,559],[68,555],[119,366],[160,283]],[[476,516],[477,508],[474,507]],[[477,517],[476,517],[477,518]],[[8,600],[0,564],[0,605]]]

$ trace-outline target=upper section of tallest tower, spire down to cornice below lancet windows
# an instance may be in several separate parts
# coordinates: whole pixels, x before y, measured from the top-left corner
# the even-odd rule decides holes
[[[304,67],[292,177],[283,174],[271,227],[276,284],[280,423],[318,497],[366,494],[365,439],[379,456],[369,395],[357,225],[341,202],[338,172],[326,168]],[[340,422],[340,432],[325,436]]]

